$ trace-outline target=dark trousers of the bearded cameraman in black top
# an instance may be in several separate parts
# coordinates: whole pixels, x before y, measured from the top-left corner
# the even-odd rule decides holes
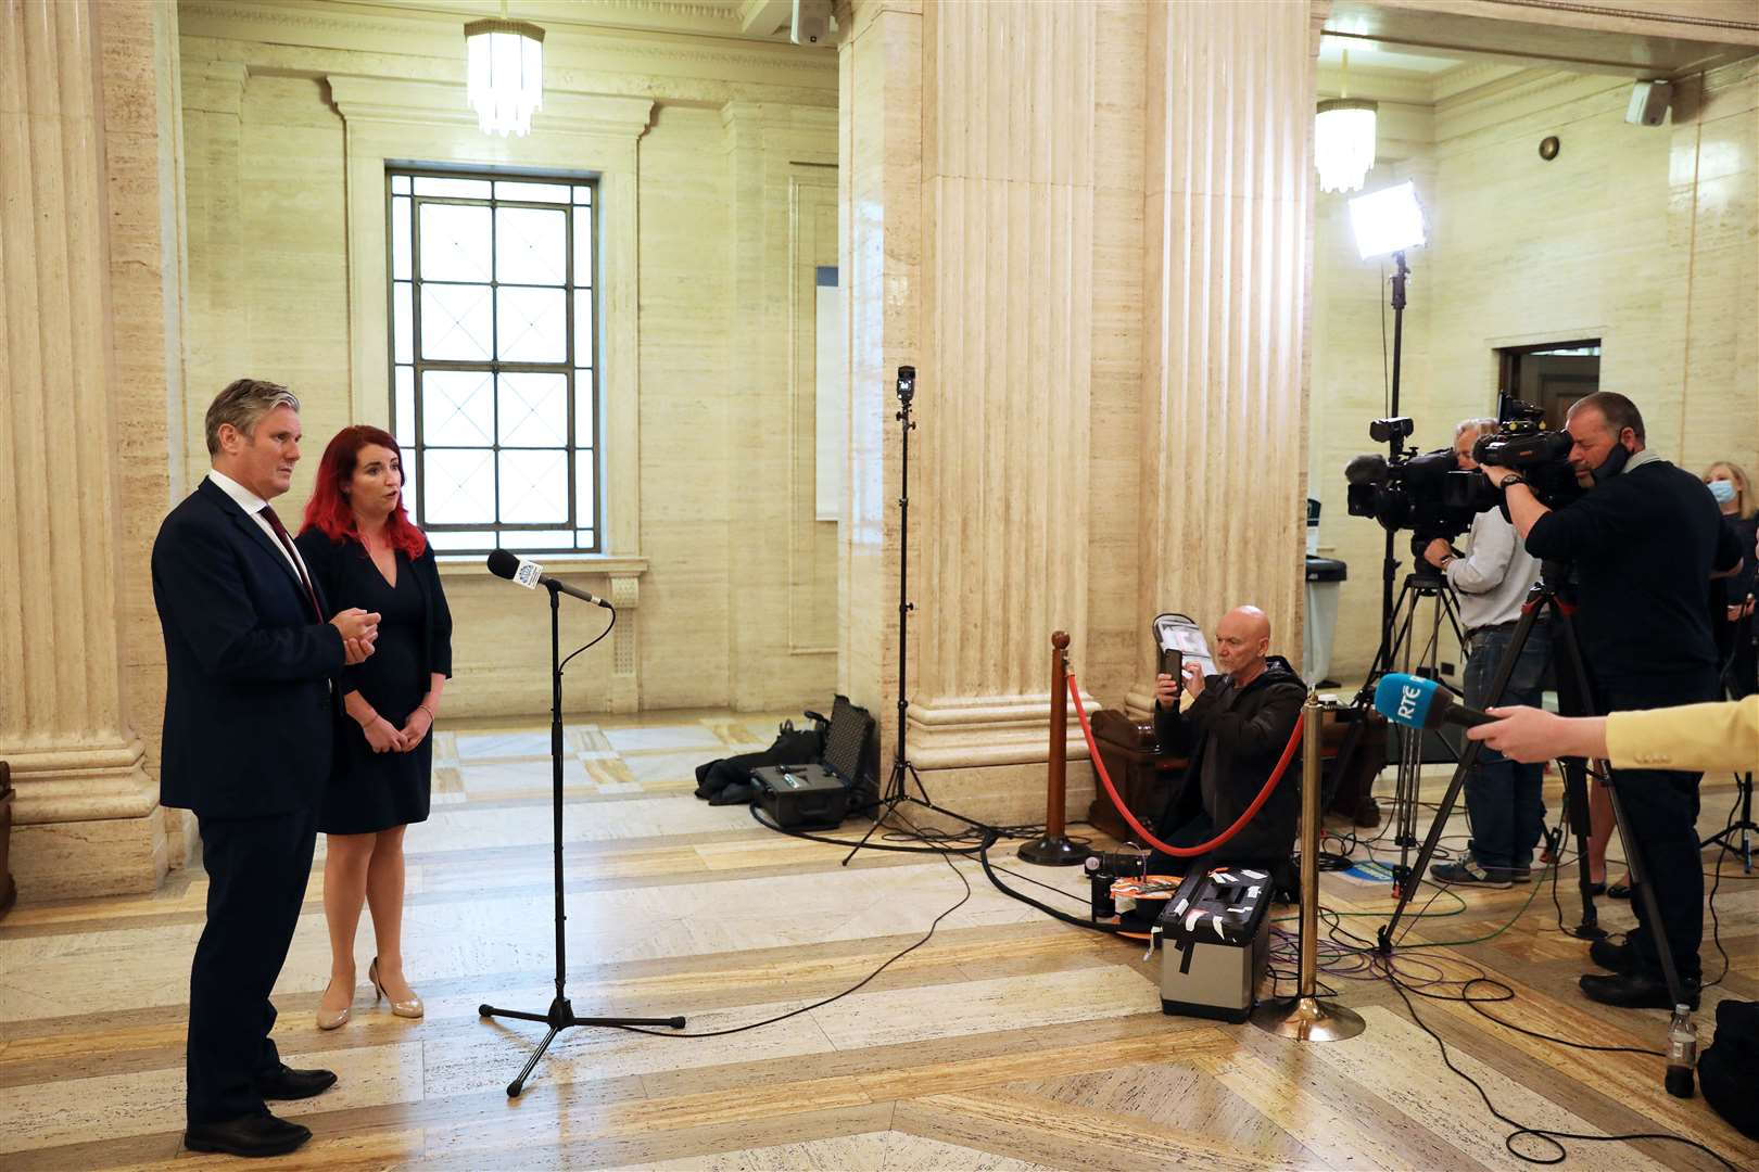
[[[1601,685],[1595,689],[1601,712],[1638,712],[1671,708],[1717,699],[1715,673],[1683,678],[1652,678],[1638,687]],[[1641,877],[1655,891],[1660,931],[1650,922],[1648,905],[1632,894],[1631,907],[1638,928],[1629,935],[1638,963],[1660,975],[1657,937],[1668,942],[1673,965],[1682,979],[1703,973],[1697,949],[1704,942],[1704,865],[1697,850],[1697,784],[1703,773],[1671,770],[1613,770],[1613,785],[1624,807],[1620,836],[1641,859]]]

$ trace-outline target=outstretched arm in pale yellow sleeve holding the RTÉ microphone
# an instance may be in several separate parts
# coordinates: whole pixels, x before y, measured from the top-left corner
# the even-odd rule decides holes
[[[1617,768],[1759,768],[1759,696],[1606,717],[1560,717],[1541,708],[1490,708],[1499,717],[1465,731],[1514,761],[1592,757]]]

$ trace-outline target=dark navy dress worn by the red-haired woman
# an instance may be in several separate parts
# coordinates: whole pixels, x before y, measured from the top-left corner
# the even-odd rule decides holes
[[[433,548],[419,557],[398,552],[398,582],[373,564],[357,541],[332,543],[317,529],[299,534],[311,576],[324,582],[327,604],[378,611],[373,654],[343,673],[343,691],[359,691],[373,710],[401,729],[427,694],[431,675],[452,671],[452,617],[440,590]],[[433,733],[413,752],[373,752],[366,733],[343,715],[336,761],[318,814],[325,835],[373,835],[426,822],[433,792]]]

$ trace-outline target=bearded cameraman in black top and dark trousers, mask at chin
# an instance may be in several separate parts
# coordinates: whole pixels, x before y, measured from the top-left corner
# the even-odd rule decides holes
[[[1594,490],[1557,511],[1514,471],[1485,464],[1527,552],[1573,562],[1576,633],[1601,712],[1712,701],[1717,648],[1710,634],[1710,578],[1741,566],[1703,481],[1643,446],[1643,416],[1631,399],[1595,392],[1566,420],[1569,462]],[[1606,1005],[1669,1009],[1657,933],[1697,1005],[1697,945],[1704,935],[1704,875],[1697,854],[1701,773],[1613,770],[1627,842],[1645,863],[1660,924],[1632,900],[1638,930],[1624,945],[1595,940],[1592,959],[1615,975],[1585,975],[1583,993]]]

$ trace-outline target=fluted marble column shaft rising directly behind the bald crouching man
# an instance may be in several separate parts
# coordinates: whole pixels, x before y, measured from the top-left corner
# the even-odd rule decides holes
[[[1312,5],[1149,9],[1138,610],[1242,603],[1300,661]],[[1136,655],[1150,696],[1147,624]]]

